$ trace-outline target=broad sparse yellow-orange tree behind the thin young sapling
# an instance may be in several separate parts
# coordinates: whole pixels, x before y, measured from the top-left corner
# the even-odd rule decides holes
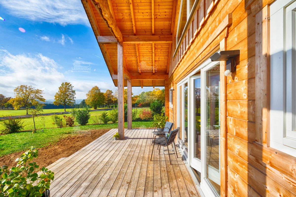
[[[32,106],[36,106],[39,101],[45,102],[43,91],[41,89],[35,89],[35,87],[31,85],[20,85],[13,91],[15,92],[15,98],[10,99],[8,102],[15,108],[15,110],[24,107],[27,115],[28,109]]]

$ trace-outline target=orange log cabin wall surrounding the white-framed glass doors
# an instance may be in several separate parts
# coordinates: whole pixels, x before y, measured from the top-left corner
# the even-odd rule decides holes
[[[175,58],[171,56],[169,82],[175,91],[174,108],[169,111],[176,124],[176,84],[218,51],[224,38],[225,49],[240,50],[236,73],[226,78],[224,90],[226,110],[221,115],[226,119],[227,149],[221,154],[227,169],[221,168],[225,173],[221,182],[227,182],[221,183],[221,196],[296,196],[296,158],[269,147],[268,14],[273,1],[201,0],[185,43]],[[229,14],[232,23],[222,28]],[[174,52],[176,46],[172,47]]]

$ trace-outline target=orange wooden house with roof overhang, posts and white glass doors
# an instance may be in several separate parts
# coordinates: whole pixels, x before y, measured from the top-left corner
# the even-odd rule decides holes
[[[124,87],[131,129],[132,87],[163,86],[201,196],[296,196],[295,0],[82,4],[118,87],[122,138]]]

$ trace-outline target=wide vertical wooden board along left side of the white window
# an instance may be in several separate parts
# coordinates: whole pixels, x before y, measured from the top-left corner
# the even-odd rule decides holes
[[[255,30],[255,113],[256,139],[263,146],[269,147],[269,112],[270,112],[270,27],[269,5],[256,14]]]

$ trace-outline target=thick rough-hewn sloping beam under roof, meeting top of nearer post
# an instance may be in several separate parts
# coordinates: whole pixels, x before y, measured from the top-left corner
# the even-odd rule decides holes
[[[107,27],[111,31],[111,33],[115,36],[115,38],[122,42],[122,34],[117,26],[116,20],[113,17],[112,11],[110,11],[110,7],[107,1],[104,0],[91,0],[94,4],[94,7],[106,23]]]

